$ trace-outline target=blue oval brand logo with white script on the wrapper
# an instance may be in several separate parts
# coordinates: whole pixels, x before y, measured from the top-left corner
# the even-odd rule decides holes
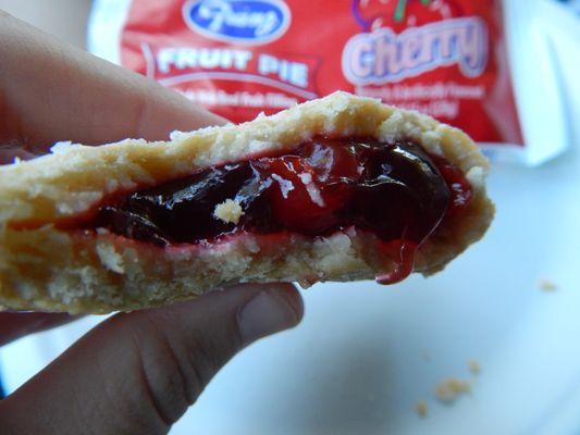
[[[277,39],[291,22],[282,0],[189,0],[183,16],[194,32],[208,38],[245,45]]]

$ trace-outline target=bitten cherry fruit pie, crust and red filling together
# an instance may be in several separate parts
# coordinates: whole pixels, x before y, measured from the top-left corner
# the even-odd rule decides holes
[[[170,141],[59,144],[0,166],[0,304],[99,313],[429,275],[486,231],[488,170],[459,129],[345,92]]]

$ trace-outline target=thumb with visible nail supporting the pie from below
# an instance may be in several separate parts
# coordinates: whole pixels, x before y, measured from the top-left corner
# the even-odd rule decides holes
[[[301,315],[289,284],[240,285],[118,314],[0,402],[0,426],[18,434],[166,433],[234,353]]]

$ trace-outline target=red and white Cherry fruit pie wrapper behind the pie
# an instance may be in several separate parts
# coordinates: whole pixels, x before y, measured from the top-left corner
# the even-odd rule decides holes
[[[89,49],[234,123],[346,90],[457,126],[492,161],[536,165],[565,149],[566,125],[533,3],[97,0]]]

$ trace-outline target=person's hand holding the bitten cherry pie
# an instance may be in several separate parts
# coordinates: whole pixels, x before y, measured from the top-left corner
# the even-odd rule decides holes
[[[57,140],[163,139],[224,121],[1,12],[0,40],[0,163]],[[233,355],[301,315],[289,284],[238,285],[115,314],[0,402],[1,432],[166,433]],[[71,319],[0,313],[0,344]]]

